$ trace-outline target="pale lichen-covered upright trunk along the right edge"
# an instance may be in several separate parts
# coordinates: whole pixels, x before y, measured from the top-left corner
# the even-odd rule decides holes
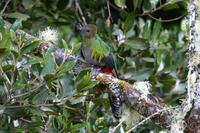
[[[200,132],[200,1],[191,0],[189,5],[189,72],[188,72],[188,104],[191,109],[185,117],[185,132]]]

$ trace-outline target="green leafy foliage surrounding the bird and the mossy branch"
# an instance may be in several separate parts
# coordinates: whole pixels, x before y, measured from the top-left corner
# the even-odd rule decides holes
[[[0,131],[108,132],[116,125],[105,91],[95,88],[89,70],[74,76],[74,63],[56,65],[51,50],[40,56],[40,40],[16,36],[20,28],[37,36],[58,31],[56,44],[79,56],[80,36],[74,0],[0,0]],[[80,0],[87,23],[113,48],[119,78],[149,81],[167,105],[184,99],[187,76],[187,0]],[[111,22],[111,23],[109,23]],[[34,90],[34,91],[33,91]],[[22,95],[25,94],[25,95]],[[11,97],[10,97],[11,96]],[[126,125],[124,125],[126,130]],[[154,123],[136,132],[158,132]]]

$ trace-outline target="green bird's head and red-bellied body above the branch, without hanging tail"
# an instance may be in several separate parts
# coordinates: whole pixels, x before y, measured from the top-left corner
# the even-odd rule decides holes
[[[117,76],[116,63],[111,48],[97,34],[97,26],[88,24],[80,29],[81,53],[85,61],[101,69],[103,73]]]

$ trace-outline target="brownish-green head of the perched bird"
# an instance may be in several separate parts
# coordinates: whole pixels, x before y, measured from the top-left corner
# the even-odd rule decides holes
[[[80,29],[80,34],[82,38],[92,38],[96,35],[96,33],[97,26],[94,24],[88,24]]]

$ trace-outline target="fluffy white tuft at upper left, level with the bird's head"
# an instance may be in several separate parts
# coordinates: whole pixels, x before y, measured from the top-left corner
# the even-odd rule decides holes
[[[44,31],[38,33],[38,37],[44,41],[55,42],[58,40],[58,32],[50,27],[47,27]]]

